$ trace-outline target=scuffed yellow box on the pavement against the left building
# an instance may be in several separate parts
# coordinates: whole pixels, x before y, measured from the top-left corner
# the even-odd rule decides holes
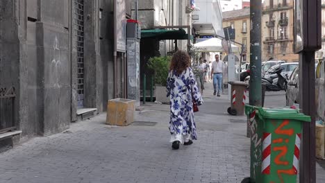
[[[126,126],[134,121],[135,101],[115,98],[108,101],[106,124]]]

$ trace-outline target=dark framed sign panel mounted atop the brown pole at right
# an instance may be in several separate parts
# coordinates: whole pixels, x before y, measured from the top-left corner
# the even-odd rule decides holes
[[[322,48],[321,1],[294,0],[294,53]]]

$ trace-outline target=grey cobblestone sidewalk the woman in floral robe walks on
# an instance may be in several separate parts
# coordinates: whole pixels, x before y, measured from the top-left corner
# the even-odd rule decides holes
[[[105,125],[100,114],[1,153],[0,182],[241,182],[249,176],[245,117],[226,114],[226,96],[204,99],[191,146],[172,150],[169,106],[148,103],[128,127]]]

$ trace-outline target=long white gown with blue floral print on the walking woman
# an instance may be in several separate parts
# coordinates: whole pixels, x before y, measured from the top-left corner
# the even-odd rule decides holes
[[[174,71],[169,71],[167,78],[168,96],[170,96],[171,101],[169,130],[172,137],[170,141],[183,143],[184,139],[185,142],[189,139],[197,139],[192,100],[194,99],[198,105],[201,105],[203,100],[190,67],[180,75]]]

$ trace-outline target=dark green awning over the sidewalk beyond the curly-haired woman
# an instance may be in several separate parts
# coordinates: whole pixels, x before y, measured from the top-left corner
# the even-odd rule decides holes
[[[192,36],[190,36],[192,39]],[[158,39],[158,40],[188,40],[188,34],[184,29],[148,29],[141,30],[141,39]]]

